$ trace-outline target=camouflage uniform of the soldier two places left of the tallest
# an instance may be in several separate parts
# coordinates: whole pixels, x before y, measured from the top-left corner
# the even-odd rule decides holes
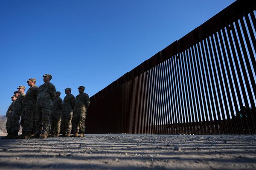
[[[12,133],[20,131],[20,116],[22,115],[23,102],[25,93],[21,93],[14,103],[14,111],[12,112],[11,129]]]

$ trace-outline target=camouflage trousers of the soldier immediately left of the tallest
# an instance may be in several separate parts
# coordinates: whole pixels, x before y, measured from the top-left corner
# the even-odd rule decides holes
[[[35,131],[35,108],[23,108],[23,132]]]

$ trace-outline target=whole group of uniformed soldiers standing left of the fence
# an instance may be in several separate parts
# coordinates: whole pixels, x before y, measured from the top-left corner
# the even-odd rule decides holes
[[[84,86],[79,86],[79,95],[71,94],[71,88],[65,89],[64,101],[61,92],[56,91],[50,82],[52,75],[45,74],[44,84],[35,85],[36,79],[30,78],[26,87],[20,85],[14,92],[12,104],[6,113],[6,130],[8,135],[3,139],[29,139],[48,136],[84,137],[85,116],[90,105],[88,94],[84,93]],[[18,132],[22,126],[22,134]],[[70,136],[71,130],[73,135]],[[79,134],[80,133],[80,134]]]

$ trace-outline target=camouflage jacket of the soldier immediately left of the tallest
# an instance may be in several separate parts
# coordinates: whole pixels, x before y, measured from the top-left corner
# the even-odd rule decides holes
[[[35,108],[36,99],[38,94],[38,86],[34,85],[26,92],[24,99],[24,108]]]

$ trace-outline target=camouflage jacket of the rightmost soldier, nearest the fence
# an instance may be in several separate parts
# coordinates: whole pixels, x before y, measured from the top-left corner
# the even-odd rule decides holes
[[[88,94],[81,93],[76,96],[74,113],[85,112],[86,108],[90,105],[90,98]]]

